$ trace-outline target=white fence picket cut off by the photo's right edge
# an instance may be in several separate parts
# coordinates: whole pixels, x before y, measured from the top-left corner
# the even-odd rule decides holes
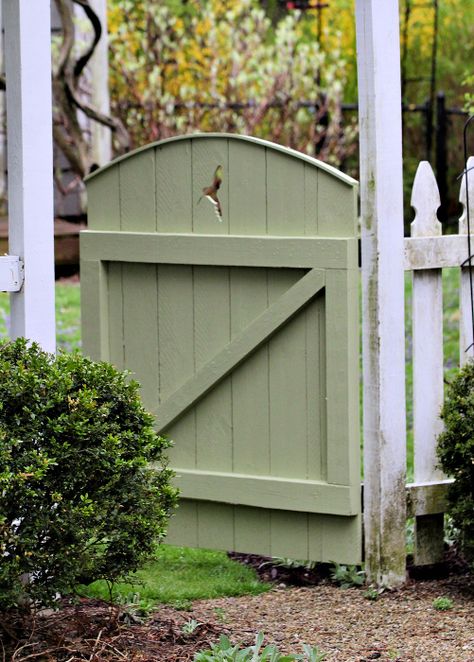
[[[474,168],[474,156],[470,156],[467,161],[467,169]],[[467,187],[466,179],[469,184],[469,212],[471,224],[471,250],[474,252],[474,170],[469,170],[463,175],[461,180],[461,189],[459,193],[459,200],[463,206],[463,212],[459,219],[459,234],[465,234],[464,250],[462,258],[458,264],[462,264],[468,257],[468,244],[467,244]],[[474,266],[474,256],[471,264]],[[473,274],[474,278],[474,274]],[[471,315],[471,286],[469,282],[469,267],[466,266],[461,269],[461,291],[460,291],[460,309],[461,309],[461,326],[459,329],[459,358],[461,365],[469,359],[474,357],[474,347],[472,343],[472,315]],[[470,349],[468,349],[470,347]],[[468,351],[466,351],[468,349]]]

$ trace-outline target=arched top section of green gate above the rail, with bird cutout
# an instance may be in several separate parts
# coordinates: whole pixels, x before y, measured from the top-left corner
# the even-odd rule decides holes
[[[332,237],[356,232],[354,179],[249,136],[169,138],[115,159],[86,182],[89,227],[96,230]],[[201,199],[209,188],[210,198]]]

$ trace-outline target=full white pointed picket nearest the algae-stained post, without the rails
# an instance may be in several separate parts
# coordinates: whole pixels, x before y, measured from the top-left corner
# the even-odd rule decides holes
[[[416,172],[411,205],[416,216],[412,237],[442,234],[436,211],[441,204],[438,185],[428,161]],[[441,269],[413,271],[413,436],[415,484],[443,480],[437,468],[436,440],[443,426],[443,289]],[[443,558],[443,514],[415,518],[416,565]]]

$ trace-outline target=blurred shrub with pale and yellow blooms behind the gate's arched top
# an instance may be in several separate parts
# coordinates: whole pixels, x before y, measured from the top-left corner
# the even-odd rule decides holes
[[[199,130],[251,134],[335,164],[352,149],[341,47],[308,39],[299,12],[273,27],[257,0],[190,0],[185,15],[114,0],[108,19],[113,110],[135,146]]]

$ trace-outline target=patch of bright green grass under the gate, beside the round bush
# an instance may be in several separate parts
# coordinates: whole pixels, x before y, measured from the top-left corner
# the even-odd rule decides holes
[[[133,575],[133,582],[104,581],[79,591],[89,597],[132,602],[134,596],[146,603],[171,604],[186,609],[192,600],[223,596],[258,595],[271,588],[257,578],[255,570],[232,561],[224,552],[161,545],[156,558]]]

